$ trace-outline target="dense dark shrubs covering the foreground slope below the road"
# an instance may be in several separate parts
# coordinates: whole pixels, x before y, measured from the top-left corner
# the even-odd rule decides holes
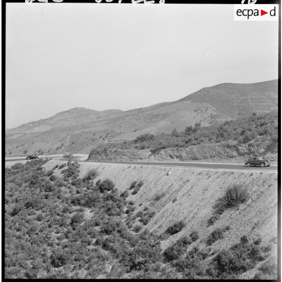
[[[212,253],[199,247],[196,231],[185,234],[182,223],[166,234],[149,232],[155,211],[135,212],[134,201],[126,200],[128,191],[144,189],[142,181],[119,193],[110,179],[77,177],[75,162],[49,171],[44,162],[5,171],[6,278],[238,278],[261,262],[256,278],[276,278],[271,245],[260,246],[260,238],[242,237]],[[180,239],[163,251],[161,241],[174,231],[182,232]]]

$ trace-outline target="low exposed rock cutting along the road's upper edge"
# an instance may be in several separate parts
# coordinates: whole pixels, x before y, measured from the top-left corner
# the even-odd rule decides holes
[[[169,148],[159,151],[109,149],[91,151],[88,160],[96,161],[243,161],[250,156],[264,156],[277,160],[277,142],[238,145],[236,141]]]

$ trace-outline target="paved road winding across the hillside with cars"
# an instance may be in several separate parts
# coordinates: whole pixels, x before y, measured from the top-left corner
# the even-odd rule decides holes
[[[45,158],[45,157],[39,157],[39,158]],[[62,158],[57,157],[54,158],[55,160],[62,160],[62,161],[68,161],[68,158]],[[82,158],[83,159],[83,158]],[[72,160],[77,160],[79,162],[88,162],[85,160],[82,160],[81,157],[74,157]],[[85,158],[84,158],[85,159]],[[11,158],[9,160],[5,160],[5,162],[11,162],[11,161],[23,161],[26,160],[26,158]],[[96,162],[96,161],[90,161],[91,163],[110,163],[110,164],[126,164],[126,165],[149,165],[149,166],[179,166],[179,167],[197,167],[197,168],[213,168],[213,169],[239,169],[239,170],[270,170],[270,171],[277,171],[277,165],[271,165],[268,167],[247,167],[244,164],[223,164],[223,163],[187,163],[187,162],[115,162],[115,161],[103,161],[103,162]]]

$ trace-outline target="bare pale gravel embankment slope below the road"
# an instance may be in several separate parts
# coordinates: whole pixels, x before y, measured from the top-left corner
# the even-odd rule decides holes
[[[49,161],[44,167],[50,170],[60,163]],[[162,249],[196,230],[199,239],[191,244],[186,252],[195,247],[207,251],[210,255],[201,262],[205,267],[209,266],[220,250],[238,244],[242,236],[246,236],[249,241],[261,238],[261,245],[268,244],[272,256],[277,258],[276,173],[93,163],[81,163],[79,169],[80,177],[84,177],[89,170],[96,169],[99,176],[95,181],[110,178],[120,192],[127,190],[132,181],[143,181],[140,190],[135,195],[130,193],[127,199],[134,203],[134,214],[145,208],[155,212],[146,228],[161,234],[176,221],[183,220],[185,223],[180,232],[163,240]],[[171,173],[168,174],[168,171]],[[61,175],[60,170],[55,173]],[[225,210],[218,220],[209,226],[208,221],[214,212],[214,204],[232,184],[243,185],[248,200]],[[87,213],[87,216],[91,217],[91,213]],[[216,228],[226,226],[229,226],[229,229],[224,232],[223,238],[207,246],[209,234]],[[255,269],[244,273],[241,278],[252,278],[261,263]]]

